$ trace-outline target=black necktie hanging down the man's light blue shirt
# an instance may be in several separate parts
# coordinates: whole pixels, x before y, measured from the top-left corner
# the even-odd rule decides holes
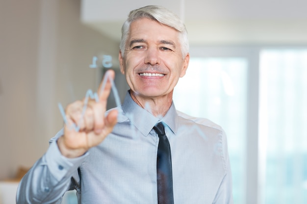
[[[174,204],[172,158],[170,143],[160,122],[153,127],[159,136],[157,153],[157,190],[158,204]]]

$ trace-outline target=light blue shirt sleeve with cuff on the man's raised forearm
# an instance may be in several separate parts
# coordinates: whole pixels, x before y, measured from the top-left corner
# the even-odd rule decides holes
[[[36,161],[20,182],[16,195],[17,204],[60,203],[69,189],[71,178],[79,182],[77,169],[87,157],[68,159],[61,155],[54,139],[47,152]]]

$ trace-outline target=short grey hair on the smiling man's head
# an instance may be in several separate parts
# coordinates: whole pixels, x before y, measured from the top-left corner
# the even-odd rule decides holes
[[[161,6],[148,5],[130,11],[128,19],[122,26],[122,41],[120,43],[120,50],[123,57],[129,35],[130,24],[143,18],[152,19],[177,30],[179,32],[179,42],[182,52],[182,58],[187,55],[189,51],[189,41],[184,23],[179,19],[176,14],[174,14],[170,10]]]

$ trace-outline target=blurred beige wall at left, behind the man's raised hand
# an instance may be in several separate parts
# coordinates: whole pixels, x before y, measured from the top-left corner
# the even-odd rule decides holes
[[[62,127],[64,106],[95,90],[99,53],[118,43],[79,21],[79,0],[0,2],[0,180],[30,167]]]

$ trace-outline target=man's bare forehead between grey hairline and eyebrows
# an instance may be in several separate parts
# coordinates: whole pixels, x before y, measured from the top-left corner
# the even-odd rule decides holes
[[[179,43],[179,31],[157,21],[143,18],[130,24],[128,41],[173,41]]]

